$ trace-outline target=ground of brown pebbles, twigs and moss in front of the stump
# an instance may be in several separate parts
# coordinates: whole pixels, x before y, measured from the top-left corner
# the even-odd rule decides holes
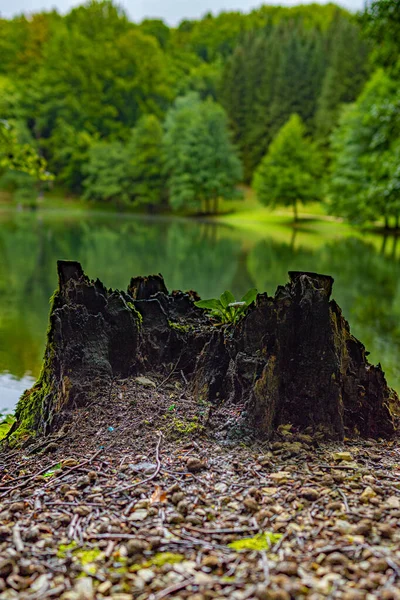
[[[0,598],[400,598],[398,440],[252,442],[184,375],[0,453]]]

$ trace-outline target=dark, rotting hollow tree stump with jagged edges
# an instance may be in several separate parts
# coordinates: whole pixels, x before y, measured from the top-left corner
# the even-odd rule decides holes
[[[161,275],[133,278],[126,293],[76,262],[60,261],[58,275],[42,374],[16,411],[21,429],[48,433],[113,378],[175,365],[197,398],[245,405],[244,426],[263,439],[289,423],[330,439],[395,430],[398,397],[330,300],[329,276],[289,273],[238,324],[216,326],[194,292],[168,294]]]

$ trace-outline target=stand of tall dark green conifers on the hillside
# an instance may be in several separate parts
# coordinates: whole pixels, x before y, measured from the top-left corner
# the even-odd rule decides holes
[[[360,27],[338,7],[264,9],[265,27],[243,34],[225,61],[218,96],[246,181],[291,114],[326,135],[341,104],[355,100],[367,70]]]

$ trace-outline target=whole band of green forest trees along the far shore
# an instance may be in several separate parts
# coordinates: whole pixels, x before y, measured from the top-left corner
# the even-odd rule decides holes
[[[400,216],[400,7],[262,6],[168,27],[110,0],[0,19],[0,190],[218,213]]]

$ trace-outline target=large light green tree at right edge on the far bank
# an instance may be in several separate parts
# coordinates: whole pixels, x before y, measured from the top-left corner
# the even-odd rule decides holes
[[[332,136],[334,214],[356,222],[400,217],[400,93],[377,71]]]

